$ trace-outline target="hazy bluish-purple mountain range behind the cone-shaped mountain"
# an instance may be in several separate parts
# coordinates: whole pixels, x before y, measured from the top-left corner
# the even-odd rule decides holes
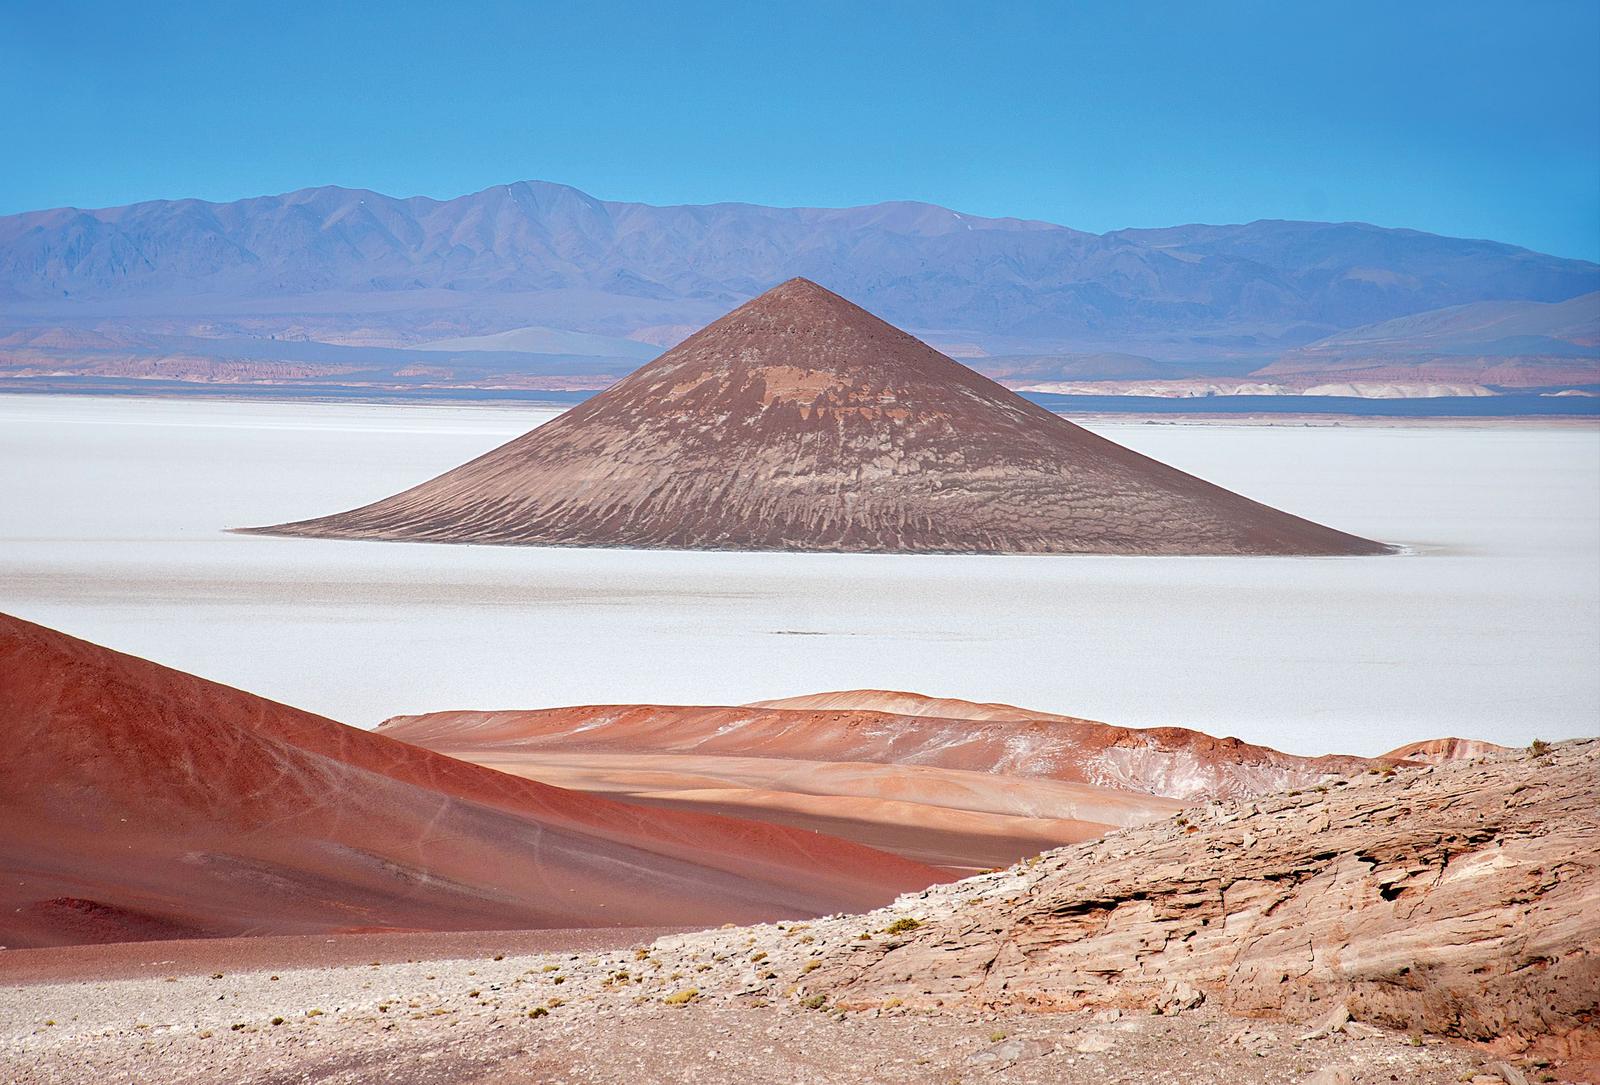
[[[1120,355],[1122,374],[1130,355],[1149,373],[1243,374],[1354,328],[1600,291],[1586,261],[1358,222],[1094,235],[926,203],[650,206],[533,181],[454,200],[322,187],[0,218],[0,371],[147,378],[210,358],[238,363],[242,381],[270,381],[283,362],[331,366],[328,379],[603,386],[794,275],[981,368],[1027,358],[1035,378],[1093,378],[1083,360],[1096,355]],[[285,341],[355,352],[262,349]],[[1592,344],[1574,357],[1592,360]]]

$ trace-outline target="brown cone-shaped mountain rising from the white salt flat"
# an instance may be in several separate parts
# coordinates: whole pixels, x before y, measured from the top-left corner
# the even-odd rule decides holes
[[[1096,437],[803,278],[432,482],[254,530],[742,551],[1389,549]]]

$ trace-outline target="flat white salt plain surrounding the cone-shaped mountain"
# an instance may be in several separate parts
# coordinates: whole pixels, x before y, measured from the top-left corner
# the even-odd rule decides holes
[[[1600,430],[1096,422],[1378,559],[238,536],[549,408],[0,398],[0,608],[357,725],[909,688],[1298,754],[1600,731]]]

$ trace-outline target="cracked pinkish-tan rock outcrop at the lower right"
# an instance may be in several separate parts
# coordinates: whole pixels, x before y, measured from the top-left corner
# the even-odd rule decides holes
[[[1600,741],[1211,805],[902,898],[845,1003],[1160,1008],[1600,1047]]]

